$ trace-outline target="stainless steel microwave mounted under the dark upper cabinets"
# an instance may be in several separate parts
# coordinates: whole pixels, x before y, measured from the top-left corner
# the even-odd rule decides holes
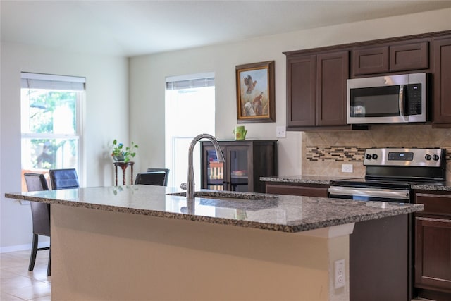
[[[347,80],[347,123],[428,121],[428,74]]]

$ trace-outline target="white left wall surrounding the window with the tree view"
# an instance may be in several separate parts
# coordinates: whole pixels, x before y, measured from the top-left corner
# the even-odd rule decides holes
[[[20,186],[20,72],[86,77],[80,185],[113,185],[109,143],[128,140],[128,59],[1,43],[0,252],[31,245],[30,206],[5,199]]]

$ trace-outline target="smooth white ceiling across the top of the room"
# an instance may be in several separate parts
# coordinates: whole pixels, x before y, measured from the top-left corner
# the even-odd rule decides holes
[[[451,1],[0,0],[1,42],[137,56],[450,8]]]

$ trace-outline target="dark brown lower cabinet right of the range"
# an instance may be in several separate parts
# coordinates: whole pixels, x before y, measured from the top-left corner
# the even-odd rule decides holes
[[[451,194],[416,192],[424,211],[415,214],[414,294],[451,300]]]

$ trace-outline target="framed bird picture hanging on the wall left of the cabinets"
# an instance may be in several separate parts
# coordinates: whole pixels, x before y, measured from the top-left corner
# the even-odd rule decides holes
[[[276,121],[274,61],[235,67],[237,123]]]

